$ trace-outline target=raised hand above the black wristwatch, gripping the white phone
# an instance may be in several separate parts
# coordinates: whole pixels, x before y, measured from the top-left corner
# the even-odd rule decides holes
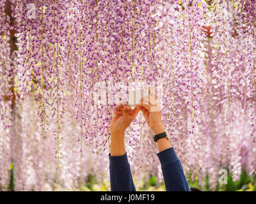
[[[156,94],[149,89],[149,95],[141,99],[141,112],[143,113],[148,126],[154,131],[155,135],[164,132],[161,119],[161,108],[157,102]]]

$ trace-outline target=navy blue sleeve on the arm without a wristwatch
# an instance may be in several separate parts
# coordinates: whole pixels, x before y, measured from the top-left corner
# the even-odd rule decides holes
[[[111,191],[136,191],[127,154],[110,156],[109,175]]]

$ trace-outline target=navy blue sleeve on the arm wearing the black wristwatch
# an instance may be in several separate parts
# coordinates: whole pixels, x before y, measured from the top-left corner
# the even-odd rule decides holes
[[[173,148],[157,153],[167,191],[190,191],[180,160]]]

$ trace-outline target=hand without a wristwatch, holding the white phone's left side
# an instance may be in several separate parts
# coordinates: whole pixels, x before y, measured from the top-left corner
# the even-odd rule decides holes
[[[124,134],[125,129],[131,124],[140,112],[141,107],[132,109],[130,106],[124,106],[120,103],[113,110],[113,119],[110,123],[111,133]]]

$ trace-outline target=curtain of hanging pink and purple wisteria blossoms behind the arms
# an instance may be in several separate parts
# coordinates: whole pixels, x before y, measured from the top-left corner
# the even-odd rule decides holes
[[[7,7],[10,7],[9,11]],[[2,0],[0,189],[106,182],[113,107],[153,87],[188,178],[256,170],[256,1]],[[15,35],[14,35],[15,34]],[[17,48],[13,49],[11,41]],[[125,132],[136,180],[163,180],[143,115]]]

